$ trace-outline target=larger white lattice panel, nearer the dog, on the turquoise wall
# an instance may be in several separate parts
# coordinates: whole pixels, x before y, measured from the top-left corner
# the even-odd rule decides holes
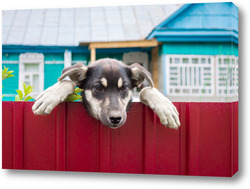
[[[214,95],[213,56],[166,55],[165,58],[168,95]]]

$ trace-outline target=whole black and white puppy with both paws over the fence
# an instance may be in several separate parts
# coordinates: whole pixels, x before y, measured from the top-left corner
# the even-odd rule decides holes
[[[69,77],[71,81],[63,80]],[[180,126],[175,106],[154,88],[151,74],[140,64],[126,64],[115,59],[100,59],[90,66],[76,64],[65,68],[58,83],[40,94],[32,110],[34,114],[49,114],[53,108],[81,89],[82,103],[87,112],[110,128],[119,128],[127,119],[132,89],[146,80],[149,87],[140,92],[140,101],[150,106],[163,125],[177,129]],[[73,82],[73,83],[72,83]]]

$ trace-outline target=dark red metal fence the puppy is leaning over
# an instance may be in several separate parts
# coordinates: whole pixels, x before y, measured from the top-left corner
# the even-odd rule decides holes
[[[3,102],[3,169],[233,176],[238,102],[174,104],[179,130],[163,127],[140,103],[112,130],[80,103],[34,116],[32,102]]]

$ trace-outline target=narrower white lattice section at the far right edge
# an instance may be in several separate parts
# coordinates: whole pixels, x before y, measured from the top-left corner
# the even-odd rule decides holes
[[[238,57],[216,56],[216,95],[238,95]]]

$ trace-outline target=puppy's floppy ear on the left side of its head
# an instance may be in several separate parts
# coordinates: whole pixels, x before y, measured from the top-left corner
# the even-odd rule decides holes
[[[62,71],[62,75],[58,78],[58,81],[63,80],[65,77],[69,76],[70,79],[76,84],[76,86],[80,86],[80,82],[86,78],[88,67],[82,63],[77,63],[73,66],[64,68]]]

